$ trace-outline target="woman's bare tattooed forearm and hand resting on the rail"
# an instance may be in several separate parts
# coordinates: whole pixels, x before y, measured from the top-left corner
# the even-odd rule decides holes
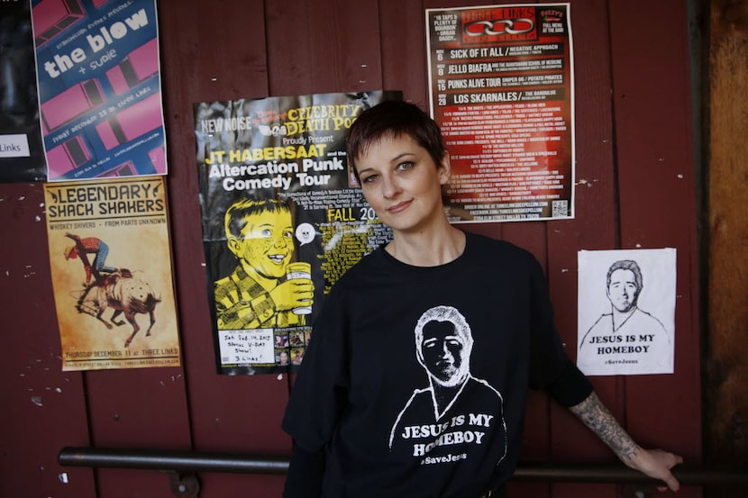
[[[597,394],[589,394],[584,401],[570,406],[569,409],[606,443],[626,466],[664,481],[672,491],[680,489],[678,479],[672,475],[670,468],[683,463],[683,458],[661,449],[640,447],[607,410]],[[661,488],[664,489],[666,488]]]

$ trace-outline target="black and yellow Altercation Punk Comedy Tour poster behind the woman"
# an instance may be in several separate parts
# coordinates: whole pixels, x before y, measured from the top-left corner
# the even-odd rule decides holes
[[[399,92],[194,104],[217,371],[295,371],[324,296],[389,240],[348,168],[345,137]]]

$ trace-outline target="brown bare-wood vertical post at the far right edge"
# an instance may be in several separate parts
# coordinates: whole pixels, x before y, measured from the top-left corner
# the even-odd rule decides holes
[[[743,95],[748,94],[748,7],[724,0],[709,5],[708,53],[708,296],[706,458],[748,460],[748,240],[745,195],[748,141]],[[737,488],[709,496],[738,496]],[[744,490],[743,490],[744,494]]]

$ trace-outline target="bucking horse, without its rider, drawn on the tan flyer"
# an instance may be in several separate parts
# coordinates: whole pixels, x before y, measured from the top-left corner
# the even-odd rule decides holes
[[[78,299],[76,309],[78,312],[87,313],[96,317],[106,325],[107,329],[112,329],[113,324],[124,325],[123,320],[117,320],[117,317],[124,313],[124,318],[132,325],[132,334],[124,342],[124,347],[130,346],[135,334],[141,330],[138,322],[135,321],[135,315],[138,313],[148,313],[151,317],[151,325],[146,330],[146,337],[151,335],[151,329],[156,323],[154,311],[156,304],[161,300],[153,293],[153,289],[148,282],[132,276],[128,270],[115,270],[113,273],[101,276],[92,285],[89,285]],[[107,308],[114,309],[110,321],[103,317]]]

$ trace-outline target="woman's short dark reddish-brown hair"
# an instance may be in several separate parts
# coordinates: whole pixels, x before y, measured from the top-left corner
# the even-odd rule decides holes
[[[348,162],[359,177],[356,159],[383,138],[407,135],[428,151],[438,167],[447,153],[439,125],[415,104],[387,100],[359,114],[345,140]]]

